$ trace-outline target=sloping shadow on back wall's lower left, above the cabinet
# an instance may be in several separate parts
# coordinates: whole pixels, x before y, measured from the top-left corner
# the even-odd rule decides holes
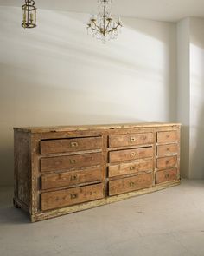
[[[89,91],[80,89],[41,86],[29,81],[27,75],[17,75],[21,74],[17,67],[5,67],[5,70],[11,75],[5,86],[1,86],[0,185],[13,182],[13,127],[146,121],[134,118],[134,111],[130,113],[129,106],[123,102],[94,96],[94,91],[90,95]],[[7,86],[14,81],[15,88]]]

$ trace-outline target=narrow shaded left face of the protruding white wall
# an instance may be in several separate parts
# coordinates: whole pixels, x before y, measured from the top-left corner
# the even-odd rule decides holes
[[[189,177],[190,124],[190,28],[189,18],[177,23],[177,120],[182,123],[181,174]]]

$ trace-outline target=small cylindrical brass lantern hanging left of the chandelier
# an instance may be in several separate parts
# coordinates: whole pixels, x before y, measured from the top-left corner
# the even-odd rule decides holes
[[[36,27],[36,7],[33,0],[25,0],[22,5],[22,27],[32,29]]]

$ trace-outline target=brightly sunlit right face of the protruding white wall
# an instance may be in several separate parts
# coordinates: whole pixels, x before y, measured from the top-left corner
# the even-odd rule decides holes
[[[204,19],[190,18],[190,173],[204,178]]]

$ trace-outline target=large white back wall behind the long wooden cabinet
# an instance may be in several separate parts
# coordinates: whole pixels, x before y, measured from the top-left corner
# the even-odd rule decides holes
[[[13,177],[13,127],[175,121],[175,24],[124,18],[117,41],[86,35],[86,14],[0,8],[0,185]]]

